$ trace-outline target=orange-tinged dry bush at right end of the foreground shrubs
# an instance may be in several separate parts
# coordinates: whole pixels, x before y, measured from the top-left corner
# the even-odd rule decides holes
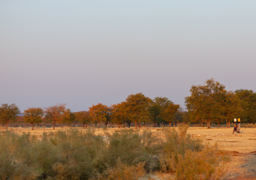
[[[217,144],[204,146],[202,140],[192,139],[186,134],[187,128],[181,126],[179,132],[166,130],[166,142],[160,156],[161,170],[174,172],[177,179],[220,178],[224,174],[223,162],[228,158],[221,154]]]

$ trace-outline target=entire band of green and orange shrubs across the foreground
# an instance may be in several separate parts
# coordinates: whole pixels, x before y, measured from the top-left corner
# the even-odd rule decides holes
[[[165,140],[150,131],[56,131],[42,137],[0,132],[0,179],[138,179],[149,172],[176,179],[218,179],[223,155],[186,133],[166,128]]]

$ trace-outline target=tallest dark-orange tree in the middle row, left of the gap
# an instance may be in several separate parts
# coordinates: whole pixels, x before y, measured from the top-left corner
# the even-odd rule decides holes
[[[143,120],[149,120],[149,107],[151,99],[144,96],[142,93],[131,94],[126,98],[126,115],[131,121],[135,122],[135,128],[137,129],[137,123]]]

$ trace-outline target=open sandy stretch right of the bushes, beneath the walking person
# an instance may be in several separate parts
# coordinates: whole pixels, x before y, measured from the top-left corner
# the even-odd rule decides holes
[[[218,142],[219,148],[227,150],[231,161],[224,179],[256,179],[256,129],[241,128],[241,133],[232,128],[193,128],[189,134],[200,137],[210,144]]]

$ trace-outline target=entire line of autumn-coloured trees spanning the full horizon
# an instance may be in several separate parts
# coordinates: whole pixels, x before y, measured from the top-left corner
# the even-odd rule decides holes
[[[53,129],[56,123],[80,122],[84,128],[89,123],[94,123],[100,128],[100,124],[116,124],[135,128],[146,123],[153,123],[154,127],[160,124],[168,126],[177,122],[218,125],[230,123],[234,118],[240,118],[244,123],[256,122],[256,93],[252,90],[227,91],[225,86],[209,79],[203,85],[193,85],[190,88],[190,96],[185,97],[186,109],[182,110],[178,104],[174,104],[166,97],[150,99],[142,93],[131,94],[125,101],[107,106],[101,103],[92,105],[88,111],[72,112],[66,108],[66,104],[56,104],[46,108],[30,107],[24,110],[23,119],[32,125],[41,122],[50,122]],[[2,104],[0,107],[0,122],[8,128],[10,122],[15,121],[21,113],[16,104]]]

